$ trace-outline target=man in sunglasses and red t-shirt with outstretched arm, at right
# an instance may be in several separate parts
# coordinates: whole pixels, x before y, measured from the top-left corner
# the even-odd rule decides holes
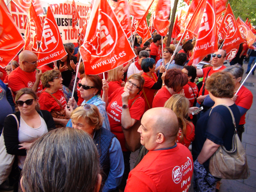
[[[205,89],[205,80],[211,76],[211,74],[220,72],[226,67],[223,65],[224,61],[226,60],[226,51],[223,49],[219,49],[217,52],[212,54],[212,61],[211,64],[213,67],[207,67],[204,69],[197,70],[197,76],[203,77],[203,85],[200,89],[198,94],[197,102],[200,104],[204,101],[205,97],[209,94],[208,91]],[[194,65],[193,65],[194,66]],[[196,66],[194,66],[196,67]]]

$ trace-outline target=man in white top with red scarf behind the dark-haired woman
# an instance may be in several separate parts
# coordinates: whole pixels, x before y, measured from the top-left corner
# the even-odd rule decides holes
[[[147,57],[150,57],[150,53],[148,53],[148,51],[140,51],[139,60],[133,62],[127,71],[127,78],[135,73],[139,73],[140,75],[143,73],[143,70],[141,69],[141,61]]]

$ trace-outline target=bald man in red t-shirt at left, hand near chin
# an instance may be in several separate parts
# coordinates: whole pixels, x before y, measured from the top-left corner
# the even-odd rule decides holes
[[[19,67],[8,77],[8,85],[14,95],[22,88],[31,88],[39,97],[42,91],[41,70],[36,70],[37,56],[31,51],[22,51],[19,56]]]

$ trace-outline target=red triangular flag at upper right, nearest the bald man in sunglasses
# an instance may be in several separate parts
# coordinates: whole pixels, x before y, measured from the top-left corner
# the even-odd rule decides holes
[[[225,15],[223,16],[223,21],[220,29],[222,30],[222,33],[225,34],[225,40],[223,42],[222,49],[226,50],[231,47],[240,45],[242,42],[244,42],[244,39],[242,38],[237,25],[237,21],[234,18],[232,9],[229,4],[227,6]]]

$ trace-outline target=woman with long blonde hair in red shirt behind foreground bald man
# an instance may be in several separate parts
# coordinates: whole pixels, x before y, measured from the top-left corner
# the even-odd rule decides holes
[[[188,148],[190,143],[195,139],[195,126],[192,122],[187,120],[189,109],[188,99],[181,94],[176,94],[165,102],[164,107],[173,110],[177,115],[179,132],[176,142],[181,143]]]

